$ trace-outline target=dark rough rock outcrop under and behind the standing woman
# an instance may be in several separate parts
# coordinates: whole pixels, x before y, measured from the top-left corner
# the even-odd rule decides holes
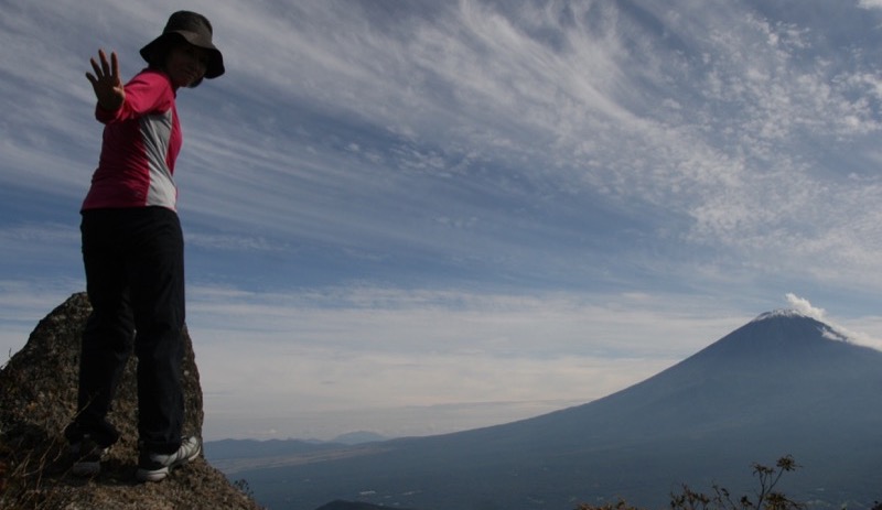
[[[76,412],[80,335],[92,311],[72,295],[37,324],[0,370],[0,508],[247,509],[259,507],[204,459],[162,482],[137,484],[137,358],[126,367],[108,419],[122,437],[92,479],[69,475],[63,430]],[[202,388],[184,332],[184,433],[202,433]]]

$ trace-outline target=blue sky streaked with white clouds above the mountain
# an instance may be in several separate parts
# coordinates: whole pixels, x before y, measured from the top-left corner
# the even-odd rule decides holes
[[[168,14],[206,438],[416,435],[590,401],[756,315],[882,345],[882,2],[3,2],[0,348],[85,283],[78,207]]]

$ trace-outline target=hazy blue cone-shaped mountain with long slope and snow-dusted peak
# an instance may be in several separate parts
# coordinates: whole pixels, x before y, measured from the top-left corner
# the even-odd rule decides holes
[[[270,508],[356,496],[420,510],[571,510],[620,496],[662,508],[682,482],[747,493],[752,463],[789,454],[803,468],[782,487],[788,496],[813,508],[869,508],[882,495],[882,351],[843,338],[775,311],[583,405],[237,476]],[[278,490],[281,479],[309,482]]]

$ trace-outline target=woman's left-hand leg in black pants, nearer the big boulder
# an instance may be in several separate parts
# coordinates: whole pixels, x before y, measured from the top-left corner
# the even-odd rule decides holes
[[[65,431],[72,443],[88,435],[105,447],[119,438],[106,416],[135,333],[117,221],[110,210],[83,215],[83,261],[93,311],[83,332],[77,415]]]

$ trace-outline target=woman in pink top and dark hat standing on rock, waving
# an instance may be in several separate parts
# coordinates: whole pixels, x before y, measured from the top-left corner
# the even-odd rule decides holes
[[[159,481],[198,456],[183,437],[181,363],[184,247],[176,214],[174,163],[182,144],[175,97],[224,74],[212,24],[173,13],[141,48],[148,67],[125,86],[116,53],[104,51],[86,77],[95,117],[105,124],[98,167],[83,203],[80,231],[93,312],[83,333],[77,414],[65,428],[73,471],[95,475],[119,440],[107,413],[132,351],[138,356],[137,477]]]

